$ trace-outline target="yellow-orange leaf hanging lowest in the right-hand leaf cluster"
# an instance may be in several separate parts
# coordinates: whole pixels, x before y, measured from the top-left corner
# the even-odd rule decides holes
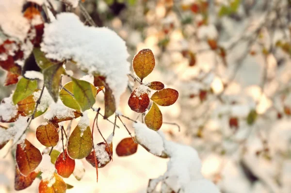
[[[149,129],[153,130],[159,130],[162,127],[162,112],[154,102],[145,116],[145,123]]]

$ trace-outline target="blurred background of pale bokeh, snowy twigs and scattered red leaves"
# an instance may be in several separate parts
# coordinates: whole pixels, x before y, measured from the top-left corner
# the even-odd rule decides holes
[[[57,12],[72,11],[85,21],[79,7],[51,0]],[[202,174],[222,193],[291,193],[291,0],[85,0],[83,6],[98,27],[106,26],[127,43],[129,61],[143,48],[156,59],[146,81],[162,81],[179,92],[178,101],[162,107],[162,131],[170,140],[191,145],[202,160]],[[67,68],[82,77],[73,65]],[[15,85],[3,87],[6,72],[0,70],[0,99]],[[63,80],[64,83],[67,80]],[[129,77],[129,82],[134,85]],[[135,119],[130,91],[119,110]],[[102,93],[96,107],[103,107]],[[92,120],[95,113],[89,114]],[[114,121],[114,117],[111,117]],[[123,119],[133,132],[132,122]],[[44,149],[35,129],[27,134],[33,145]],[[92,124],[91,123],[91,124]],[[65,123],[68,125],[69,122]],[[72,128],[77,121],[72,123]],[[117,123],[122,125],[120,122]],[[108,136],[112,124],[101,121]],[[116,130],[113,149],[128,137]],[[101,142],[96,133],[95,143]],[[10,142],[11,143],[11,142]],[[14,153],[0,151],[0,192],[14,190]],[[113,150],[114,151],[114,150]],[[167,159],[139,146],[136,154],[117,157],[96,171],[82,161],[85,175],[65,182],[70,192],[146,193],[148,180],[161,176]],[[21,192],[37,192],[36,179]]]

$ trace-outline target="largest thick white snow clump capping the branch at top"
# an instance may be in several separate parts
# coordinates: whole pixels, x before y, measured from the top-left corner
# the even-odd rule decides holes
[[[129,53],[125,42],[108,28],[84,26],[72,13],[61,13],[45,24],[41,50],[50,59],[73,59],[88,74],[106,77],[113,91],[116,107],[126,90]]]

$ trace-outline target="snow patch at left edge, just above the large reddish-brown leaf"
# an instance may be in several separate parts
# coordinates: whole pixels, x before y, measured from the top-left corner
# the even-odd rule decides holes
[[[0,144],[3,144],[6,141],[13,140],[14,144],[21,144],[24,140],[26,135],[24,134],[22,137],[22,133],[27,128],[27,117],[20,116],[14,125],[8,129],[0,128]],[[21,137],[21,138],[20,138]],[[19,139],[20,138],[20,139]],[[16,142],[16,140],[18,140]]]

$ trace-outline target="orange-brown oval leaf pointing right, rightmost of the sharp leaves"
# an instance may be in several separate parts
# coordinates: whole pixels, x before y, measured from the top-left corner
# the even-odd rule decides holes
[[[155,92],[150,99],[160,106],[170,106],[176,102],[178,96],[178,91],[171,88],[165,88]]]

